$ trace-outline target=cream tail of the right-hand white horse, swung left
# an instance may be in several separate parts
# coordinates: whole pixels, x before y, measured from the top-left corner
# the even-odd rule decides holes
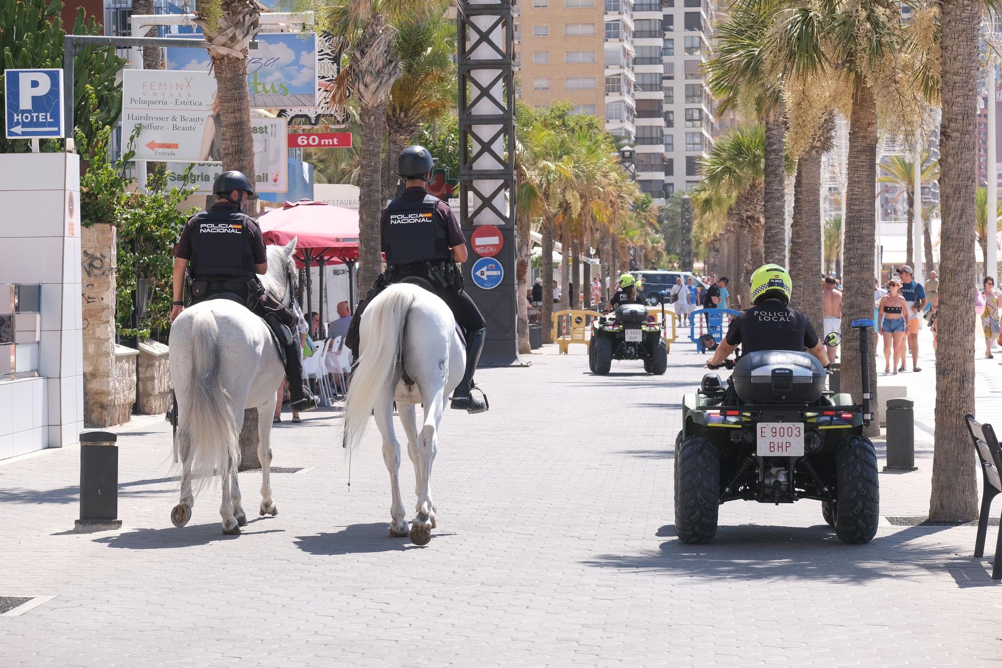
[[[358,448],[377,398],[394,382],[400,366],[404,323],[414,299],[413,287],[391,285],[366,308],[366,352],[352,373],[345,399],[345,448]]]

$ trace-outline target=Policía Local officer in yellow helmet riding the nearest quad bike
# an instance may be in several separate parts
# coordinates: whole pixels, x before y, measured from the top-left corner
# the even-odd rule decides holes
[[[706,363],[717,369],[740,346],[744,354],[759,351],[807,351],[828,367],[825,344],[811,321],[787,304],[794,281],[779,264],[765,264],[752,274],[752,307],[730,320],[727,336]]]

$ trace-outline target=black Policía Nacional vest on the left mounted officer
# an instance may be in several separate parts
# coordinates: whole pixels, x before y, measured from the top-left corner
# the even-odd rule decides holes
[[[236,209],[209,209],[196,216],[191,229],[192,277],[255,276],[246,219]]]

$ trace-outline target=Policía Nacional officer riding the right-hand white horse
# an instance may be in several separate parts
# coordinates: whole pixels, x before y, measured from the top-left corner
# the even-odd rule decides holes
[[[345,343],[358,359],[359,322],[366,304],[390,283],[409,276],[424,278],[452,309],[466,336],[466,373],[452,394],[451,408],[482,413],[487,410],[487,402],[474,397],[471,390],[479,390],[473,383],[473,373],[484,349],[487,323],[477,304],[463,291],[463,274],[456,264],[465,262],[468,256],[463,230],[449,205],[428,192],[434,168],[435,160],[424,146],[408,146],[401,151],[397,171],[404,178],[404,191],[383,209],[380,218],[387,270],[359,302]]]

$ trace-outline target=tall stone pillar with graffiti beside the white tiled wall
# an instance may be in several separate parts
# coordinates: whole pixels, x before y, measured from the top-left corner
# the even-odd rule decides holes
[[[87,427],[108,427],[111,377],[115,367],[115,226],[80,230],[83,291],[83,419]],[[134,385],[134,382],[133,382]]]

